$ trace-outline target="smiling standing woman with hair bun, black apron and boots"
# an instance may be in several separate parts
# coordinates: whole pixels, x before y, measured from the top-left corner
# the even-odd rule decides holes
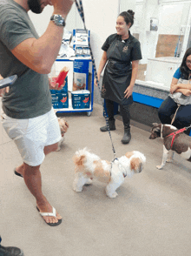
[[[133,10],[123,11],[117,18],[116,34],[109,36],[102,45],[103,54],[97,71],[99,80],[108,62],[102,79],[102,98],[105,99],[110,131],[115,130],[114,102],[120,104],[124,124],[122,144],[128,144],[131,139],[129,105],[133,103],[133,87],[142,59],[140,43],[129,31],[134,24],[134,14]],[[107,125],[100,130],[108,131]]]

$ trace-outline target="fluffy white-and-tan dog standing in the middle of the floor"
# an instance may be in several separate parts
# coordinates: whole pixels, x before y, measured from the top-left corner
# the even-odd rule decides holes
[[[106,193],[109,198],[117,196],[115,190],[122,185],[126,176],[130,178],[135,173],[142,172],[146,162],[141,152],[134,151],[127,152],[121,158],[115,158],[111,163],[89,152],[87,148],[77,151],[73,160],[76,165],[74,191],[82,192],[83,185],[91,184],[92,179],[97,179],[108,183]]]

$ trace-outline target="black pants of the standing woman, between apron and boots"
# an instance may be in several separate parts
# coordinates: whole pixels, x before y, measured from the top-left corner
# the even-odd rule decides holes
[[[115,118],[114,118],[114,101],[105,99],[105,105],[107,108],[109,121],[115,120]],[[130,127],[129,105],[120,104],[120,113],[122,114],[122,122],[124,125],[124,129],[128,129]]]

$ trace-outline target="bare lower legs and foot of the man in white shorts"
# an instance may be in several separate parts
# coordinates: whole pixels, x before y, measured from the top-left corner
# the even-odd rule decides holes
[[[47,155],[49,152],[56,151],[56,148],[57,144],[44,147],[45,155]],[[39,211],[52,212],[52,206],[43,196],[40,165],[30,166],[23,163],[23,165],[20,165],[16,168],[16,172],[19,172],[23,175],[25,184],[27,185],[33,196],[36,198],[36,205]],[[62,217],[56,212],[56,218],[43,216],[43,219],[45,219],[47,223],[57,223],[58,219],[62,219]]]

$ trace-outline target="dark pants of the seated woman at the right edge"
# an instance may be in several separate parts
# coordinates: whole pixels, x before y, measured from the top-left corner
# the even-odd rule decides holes
[[[171,116],[175,114],[177,107],[178,105],[169,96],[162,102],[158,110],[158,116],[161,120],[161,124],[171,124],[173,118],[171,118]],[[175,121],[172,125],[174,125],[177,129],[191,125],[191,104],[180,106],[176,113]],[[189,131],[190,129],[188,129],[188,131],[185,133],[189,134]]]

